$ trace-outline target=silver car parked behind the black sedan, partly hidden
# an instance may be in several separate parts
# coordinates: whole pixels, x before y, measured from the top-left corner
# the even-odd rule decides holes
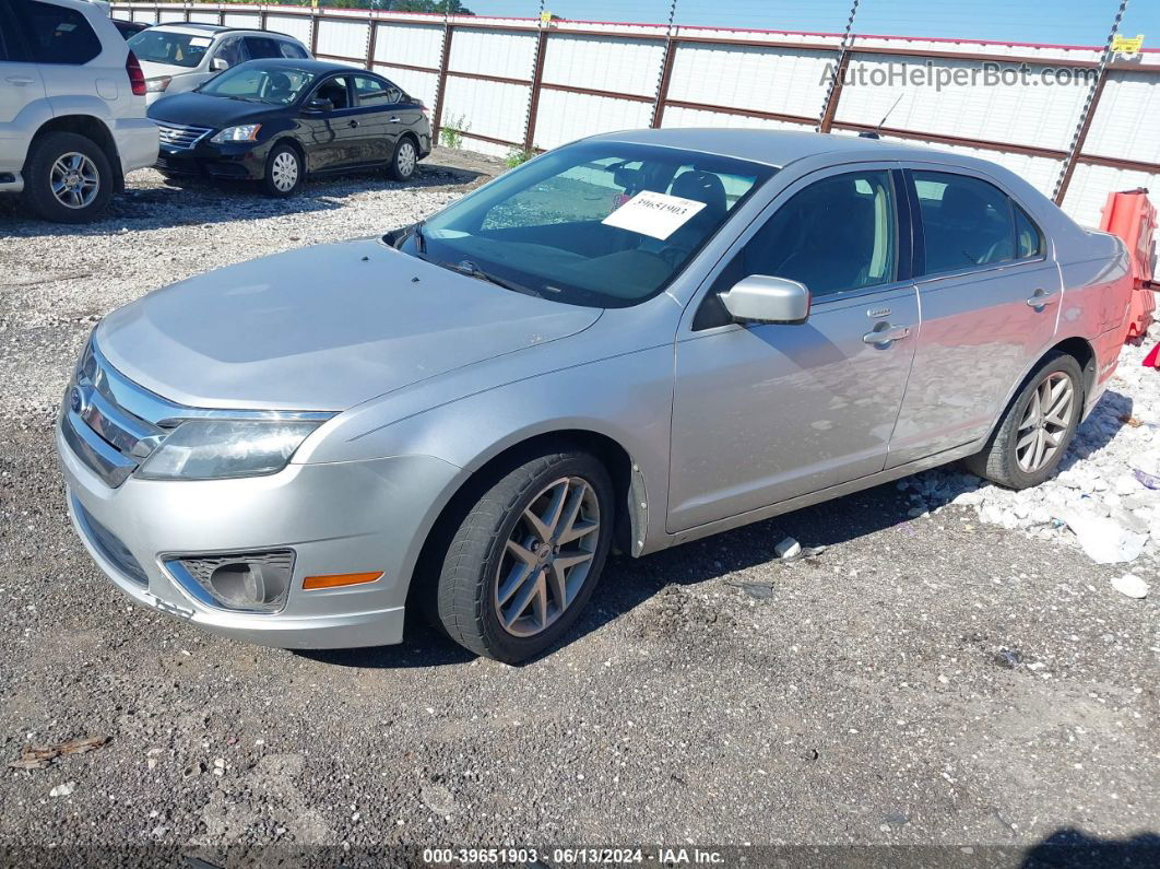
[[[158,24],[129,39],[142,61],[148,101],[205,84],[219,72],[247,60],[311,57],[292,36],[197,22]]]

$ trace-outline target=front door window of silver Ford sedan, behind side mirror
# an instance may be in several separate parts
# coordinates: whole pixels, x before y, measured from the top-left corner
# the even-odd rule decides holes
[[[815,181],[749,239],[718,276],[710,298],[749,275],[799,281],[814,298],[892,283],[898,274],[896,213],[885,169]]]

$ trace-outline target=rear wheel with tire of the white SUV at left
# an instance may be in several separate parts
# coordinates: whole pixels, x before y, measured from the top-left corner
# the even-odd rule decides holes
[[[24,164],[24,202],[53,223],[89,223],[108,207],[115,180],[109,158],[92,139],[50,132]]]

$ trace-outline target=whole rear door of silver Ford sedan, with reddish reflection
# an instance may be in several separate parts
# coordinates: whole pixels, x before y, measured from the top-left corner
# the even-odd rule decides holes
[[[993,179],[922,164],[905,174],[922,327],[891,468],[986,435],[1051,346],[1061,300],[1043,232]]]

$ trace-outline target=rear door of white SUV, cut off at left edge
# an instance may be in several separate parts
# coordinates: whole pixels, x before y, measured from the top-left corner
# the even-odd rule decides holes
[[[20,172],[32,131],[51,116],[41,70],[24,50],[8,0],[0,0],[0,173]]]

